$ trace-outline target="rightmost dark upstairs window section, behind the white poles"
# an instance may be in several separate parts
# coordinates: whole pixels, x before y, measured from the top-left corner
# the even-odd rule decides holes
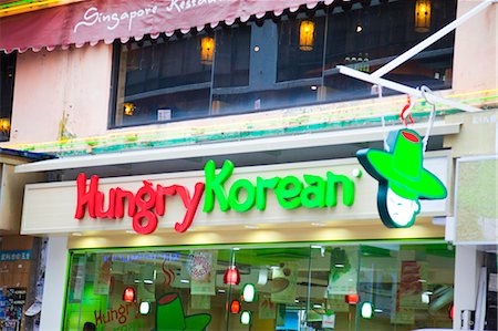
[[[324,99],[372,97],[371,84],[339,74],[336,65],[374,72],[455,19],[455,1],[432,1],[428,32],[415,30],[415,2],[395,1],[329,15]],[[413,87],[452,87],[454,33],[448,34],[384,77]],[[384,90],[384,94],[394,94]]]

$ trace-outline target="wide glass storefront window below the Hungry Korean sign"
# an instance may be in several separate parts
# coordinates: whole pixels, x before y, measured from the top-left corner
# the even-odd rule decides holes
[[[64,330],[450,328],[453,277],[446,244],[74,251]]]

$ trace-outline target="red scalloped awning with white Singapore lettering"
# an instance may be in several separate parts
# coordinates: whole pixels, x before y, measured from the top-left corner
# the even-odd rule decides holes
[[[334,0],[322,1],[325,4]],[[284,9],[297,11],[301,4],[314,8],[319,0],[91,0],[0,19],[0,50],[49,51],[56,46],[77,48],[100,41],[112,43],[141,40],[144,34],[157,38],[176,30],[184,33],[206,24],[215,28],[225,21],[232,24],[267,12],[280,15]]]

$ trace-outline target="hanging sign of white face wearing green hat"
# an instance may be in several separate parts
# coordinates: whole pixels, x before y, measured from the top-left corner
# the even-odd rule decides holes
[[[415,131],[393,131],[387,144],[391,152],[361,149],[356,157],[378,180],[377,208],[384,225],[411,227],[421,211],[418,199],[444,199],[447,190],[424,168],[422,137]]]

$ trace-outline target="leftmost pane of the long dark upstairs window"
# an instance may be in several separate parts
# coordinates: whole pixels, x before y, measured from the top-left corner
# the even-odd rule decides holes
[[[214,39],[206,34],[122,46],[115,124],[207,116],[212,54]]]

